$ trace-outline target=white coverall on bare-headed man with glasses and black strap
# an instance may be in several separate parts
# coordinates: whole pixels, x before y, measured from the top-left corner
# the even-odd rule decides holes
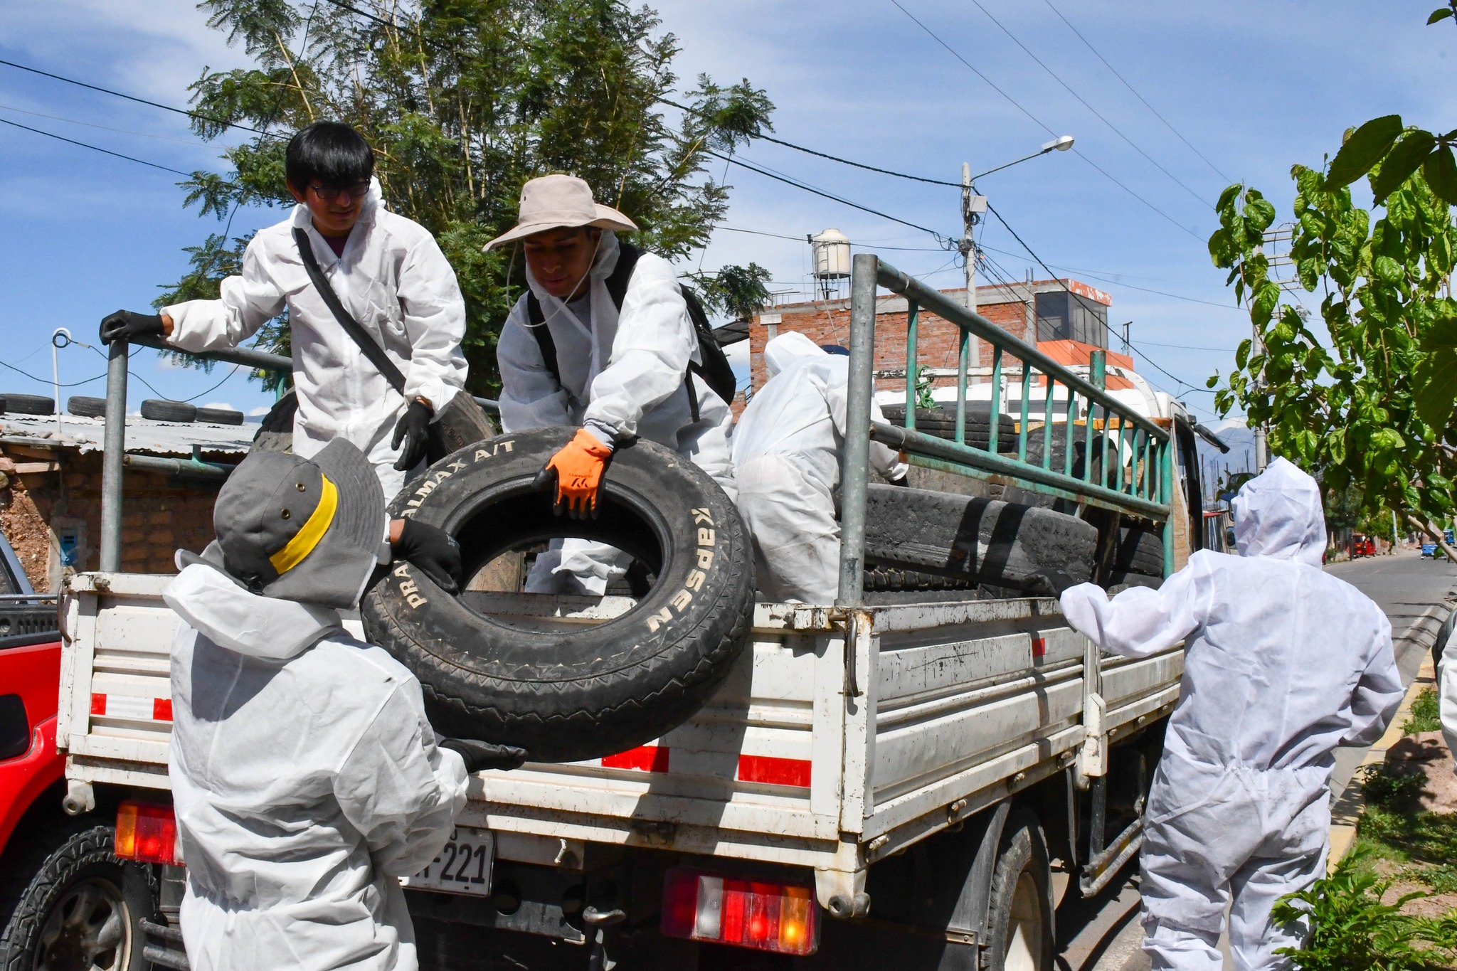
[[[339,303],[404,373],[404,396],[329,313],[299,258],[294,227],[309,234]],[[299,392],[294,453],[307,459],[334,438],[348,440],[374,466],[388,502],[405,485],[405,473],[393,467],[399,450],[389,443],[407,399],[428,399],[439,412],[465,386],[465,301],[455,271],[425,227],[385,208],[374,179],[342,256],[313,229],[309,208],[296,205],[287,220],[254,236],[242,274],[223,281],[219,300],[162,312],[172,317],[170,344],[217,351],[237,346],[286,306]]]

